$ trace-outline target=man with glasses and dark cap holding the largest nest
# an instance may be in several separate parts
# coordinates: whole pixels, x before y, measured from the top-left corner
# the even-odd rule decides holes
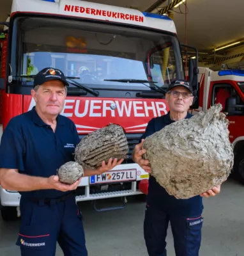
[[[133,150],[133,161],[138,163],[146,172],[151,172],[149,161],[142,159],[143,141],[151,134],[160,131],[166,125],[184,118],[191,118],[188,109],[193,102],[193,89],[188,81],[177,80],[170,84],[166,94],[169,105],[167,115],[153,118],[142,135],[142,141]],[[144,218],[144,239],[149,256],[166,256],[166,236],[169,221],[171,222],[174,237],[176,256],[198,256],[201,245],[202,228],[202,196],[215,196],[220,193],[220,186],[213,188],[202,195],[189,199],[176,199],[149,176],[148,184],[141,187],[142,192],[148,194]]]

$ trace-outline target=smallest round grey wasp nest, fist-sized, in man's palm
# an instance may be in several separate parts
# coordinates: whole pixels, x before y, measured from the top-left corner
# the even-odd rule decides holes
[[[83,174],[84,172],[82,166],[79,163],[72,161],[63,164],[57,170],[59,181],[66,184],[73,184],[73,182],[79,180]]]

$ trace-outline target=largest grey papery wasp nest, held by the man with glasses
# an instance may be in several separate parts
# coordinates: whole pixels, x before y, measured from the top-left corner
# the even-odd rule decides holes
[[[179,120],[148,136],[142,157],[149,159],[152,173],[176,198],[201,195],[224,182],[233,168],[229,121],[221,104],[189,119]]]

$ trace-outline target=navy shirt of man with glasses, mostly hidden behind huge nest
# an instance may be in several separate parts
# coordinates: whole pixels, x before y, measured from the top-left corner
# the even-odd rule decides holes
[[[188,113],[186,118],[190,117],[192,117],[192,115]],[[145,139],[173,122],[175,121],[171,120],[169,113],[151,119],[141,139]],[[155,177],[151,175],[149,176],[147,197],[147,204],[150,207],[154,207],[169,214],[187,217],[200,216],[202,214],[203,205],[201,196],[194,196],[189,199],[176,199],[174,196],[169,195],[167,191],[156,182]]]

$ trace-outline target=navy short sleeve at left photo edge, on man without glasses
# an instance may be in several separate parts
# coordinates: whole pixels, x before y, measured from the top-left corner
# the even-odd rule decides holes
[[[0,143],[0,168],[24,171],[25,143],[20,131],[8,124]]]

